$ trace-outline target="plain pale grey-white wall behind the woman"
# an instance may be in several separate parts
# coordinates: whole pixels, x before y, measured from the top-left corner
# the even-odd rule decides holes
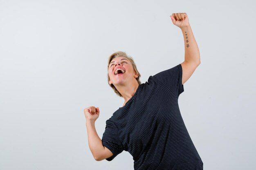
[[[200,50],[179,106],[204,169],[253,170],[252,0],[0,0],[0,169],[132,170],[126,151],[94,160],[83,109],[99,106],[101,138],[124,103],[107,82],[115,51],[134,58],[141,83],[184,61],[172,13],[187,13]]]

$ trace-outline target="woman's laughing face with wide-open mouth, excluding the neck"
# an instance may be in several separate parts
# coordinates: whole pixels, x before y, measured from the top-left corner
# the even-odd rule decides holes
[[[125,72],[117,71],[117,74],[115,74],[117,68],[121,68]],[[109,64],[108,75],[110,78],[109,84],[126,84],[135,78],[135,71],[132,63],[126,57],[116,57]]]

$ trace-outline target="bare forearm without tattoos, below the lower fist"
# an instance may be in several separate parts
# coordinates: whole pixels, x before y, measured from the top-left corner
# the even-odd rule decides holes
[[[102,145],[102,141],[99,138],[97,131],[95,129],[94,121],[86,121],[86,128],[88,134],[88,144],[92,152],[94,159],[98,159],[99,155],[105,149]]]

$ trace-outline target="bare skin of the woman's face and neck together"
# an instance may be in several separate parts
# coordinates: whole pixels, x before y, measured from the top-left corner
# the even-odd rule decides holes
[[[135,94],[139,86],[136,80],[138,74],[135,73],[132,63],[126,57],[116,57],[112,59],[111,62],[108,68],[108,75],[110,77],[109,84],[113,84],[119,93],[121,93],[121,95],[124,97],[124,106],[126,102]],[[125,73],[115,75],[115,69],[117,67],[124,68]]]

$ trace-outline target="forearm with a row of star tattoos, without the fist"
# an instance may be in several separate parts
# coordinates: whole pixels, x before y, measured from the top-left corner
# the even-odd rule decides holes
[[[191,26],[181,28],[184,37],[185,61],[200,64],[200,52],[195,41]]]

